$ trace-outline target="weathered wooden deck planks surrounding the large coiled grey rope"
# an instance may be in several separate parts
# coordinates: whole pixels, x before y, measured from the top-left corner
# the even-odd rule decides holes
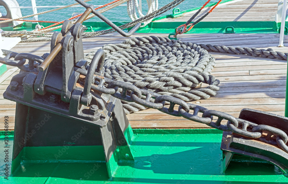
[[[167,36],[166,34],[150,35]],[[146,35],[137,33],[134,36],[141,37]],[[279,41],[278,34],[183,34],[179,38],[181,41],[193,43],[240,47],[248,45],[249,47],[264,49],[272,48],[282,52],[287,52],[288,48],[276,47]],[[83,39],[84,52],[88,53],[99,49],[106,43],[120,43],[125,39],[117,33]],[[287,36],[285,36],[284,42],[288,42]],[[19,43],[12,51],[41,56],[43,53],[50,51],[50,42]],[[216,96],[192,101],[192,104],[223,111],[236,117],[243,108],[284,115],[286,61],[256,58],[247,55],[211,54],[216,58],[216,66],[211,74],[220,80],[221,89]],[[5,76],[4,80],[0,77],[0,81],[3,81],[0,84],[0,130],[4,128],[4,116],[9,116],[10,130],[14,126],[15,102],[3,99],[2,94],[9,85],[12,76],[18,72],[19,70],[10,72],[8,76]],[[205,84],[202,84],[202,87],[205,86]],[[133,128],[209,128],[205,124],[170,116],[153,109],[143,110],[127,116]]]

